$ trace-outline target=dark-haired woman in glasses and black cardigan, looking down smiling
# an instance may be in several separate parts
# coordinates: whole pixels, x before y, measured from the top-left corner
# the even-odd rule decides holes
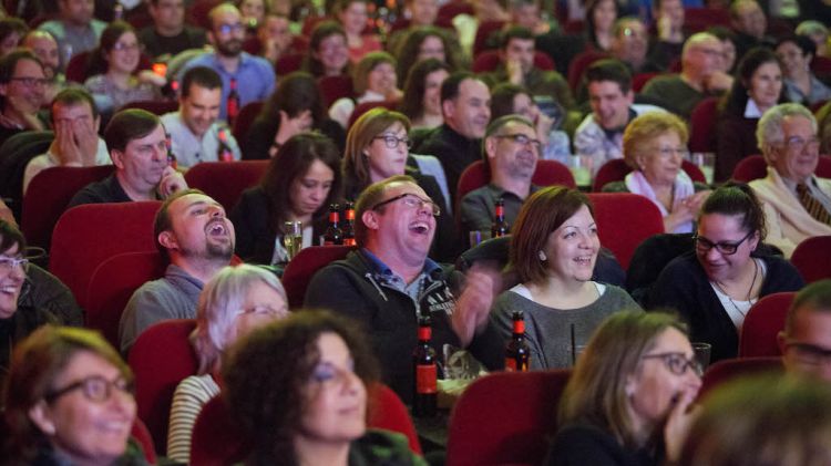
[[[727,184],[701,206],[695,250],[670,261],[653,284],[647,308],[677,309],[694,341],[712,345],[712,361],[736,358],[750,307],[802,288],[797,269],[762,247],[765,214],[749,186]]]

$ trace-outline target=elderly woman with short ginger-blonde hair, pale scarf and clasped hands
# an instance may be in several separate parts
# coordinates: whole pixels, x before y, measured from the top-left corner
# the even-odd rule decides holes
[[[693,231],[693,219],[709,191],[681,169],[687,137],[687,125],[670,113],[650,112],[633,120],[624,132],[623,148],[634,170],[603,190],[645,196],[660,209],[665,231]]]

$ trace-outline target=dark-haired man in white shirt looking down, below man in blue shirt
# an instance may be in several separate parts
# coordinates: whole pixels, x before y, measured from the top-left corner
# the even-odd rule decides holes
[[[162,124],[171,136],[177,165],[189,168],[201,162],[232,162],[239,159],[239,146],[230,128],[219,117],[222,77],[212,69],[196,66],[187,70],[182,80],[178,111],[162,116]]]

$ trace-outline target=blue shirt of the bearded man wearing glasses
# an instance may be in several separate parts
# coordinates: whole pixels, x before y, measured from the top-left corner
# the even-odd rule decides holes
[[[213,69],[223,79],[223,99],[219,108],[219,117],[228,118],[226,108],[228,94],[230,93],[230,79],[237,80],[237,94],[239,95],[239,107],[255,101],[265,101],[274,91],[276,77],[274,66],[266,59],[253,56],[246,52],[239,54],[237,72],[230,74],[216,60],[216,53],[205,53],[191,60],[179,72],[176,80],[182,82],[185,72],[194,66],[207,66]]]

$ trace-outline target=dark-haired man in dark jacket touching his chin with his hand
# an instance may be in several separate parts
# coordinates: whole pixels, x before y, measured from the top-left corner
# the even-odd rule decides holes
[[[115,173],[83,187],[69,207],[81,204],[165,199],[186,189],[185,178],[167,159],[167,141],[158,116],[143,110],[123,110],[104,130]]]

